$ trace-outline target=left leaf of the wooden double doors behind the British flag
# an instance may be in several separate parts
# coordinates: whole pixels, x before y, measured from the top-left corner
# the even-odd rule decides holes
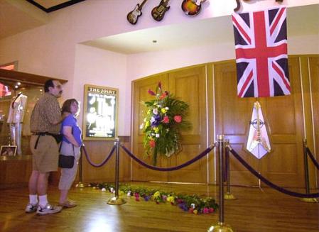
[[[236,63],[222,62],[214,65],[215,81],[215,131],[229,139],[232,148],[254,169],[258,169],[258,160],[244,152],[247,143],[249,121],[252,118],[252,106],[256,99],[237,97]],[[256,179],[235,158],[230,156],[231,183],[254,186]]]

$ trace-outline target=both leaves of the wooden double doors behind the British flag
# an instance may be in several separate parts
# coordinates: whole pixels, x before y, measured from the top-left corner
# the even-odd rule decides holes
[[[241,99],[237,97],[235,62],[216,64],[214,70],[216,134],[229,138],[232,148],[271,182],[282,187],[303,187],[303,111],[298,58],[289,60],[291,96]],[[273,150],[260,160],[244,151],[256,100],[270,127]],[[232,184],[259,184],[234,158],[230,159],[230,169]]]

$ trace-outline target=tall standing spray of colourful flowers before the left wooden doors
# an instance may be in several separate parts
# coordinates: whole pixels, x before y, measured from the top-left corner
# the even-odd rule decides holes
[[[148,89],[148,94],[155,99],[144,102],[147,111],[140,129],[145,133],[146,155],[153,155],[153,165],[156,165],[158,154],[170,157],[180,150],[180,131],[190,128],[190,123],[184,121],[189,106],[163,91],[161,82],[155,92]]]

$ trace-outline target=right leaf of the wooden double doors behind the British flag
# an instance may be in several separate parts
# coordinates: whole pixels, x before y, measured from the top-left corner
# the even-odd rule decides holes
[[[288,59],[291,95],[266,98],[264,115],[273,152],[261,160],[261,175],[281,187],[304,187],[303,102],[298,57]]]

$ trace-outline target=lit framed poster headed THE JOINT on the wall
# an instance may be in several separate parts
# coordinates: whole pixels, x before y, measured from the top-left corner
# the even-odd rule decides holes
[[[85,84],[83,139],[114,140],[117,137],[119,89]]]

